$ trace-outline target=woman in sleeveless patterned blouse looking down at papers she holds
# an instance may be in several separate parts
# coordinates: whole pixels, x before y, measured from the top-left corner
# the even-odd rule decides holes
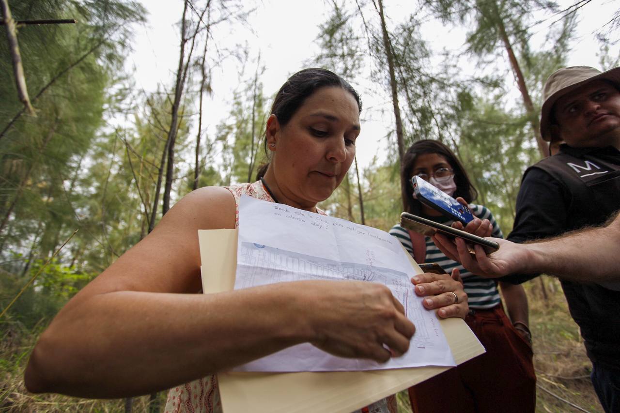
[[[166,411],[210,412],[221,409],[215,373],[291,345],[310,342],[378,362],[406,352],[415,327],[378,283],[301,281],[198,294],[198,229],[237,228],[242,193],[321,213],[317,202],[331,195],[355,156],[360,111],[358,94],[334,73],[291,76],[267,120],[264,178],[182,198],[64,306],[32,352],[27,388],[81,397],[172,388]],[[451,298],[464,298],[461,283],[447,275],[424,281],[427,308],[445,307],[446,317],[467,313],[465,300]],[[390,400],[375,405],[373,412],[395,409]]]

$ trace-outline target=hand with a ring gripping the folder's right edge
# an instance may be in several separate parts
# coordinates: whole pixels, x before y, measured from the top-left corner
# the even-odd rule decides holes
[[[415,285],[415,293],[428,296],[423,306],[428,309],[438,308],[437,315],[441,318],[465,318],[469,311],[467,293],[463,290],[463,282],[458,269],[452,275],[423,273],[411,278]]]

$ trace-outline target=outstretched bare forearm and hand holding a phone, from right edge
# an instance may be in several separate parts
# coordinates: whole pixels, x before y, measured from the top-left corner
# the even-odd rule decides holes
[[[503,277],[511,273],[547,273],[581,282],[620,282],[620,215],[603,228],[589,228],[529,244],[515,244],[490,238],[500,244],[487,256],[480,246],[476,255],[467,252],[465,242],[436,235],[433,241],[444,254],[482,277]]]

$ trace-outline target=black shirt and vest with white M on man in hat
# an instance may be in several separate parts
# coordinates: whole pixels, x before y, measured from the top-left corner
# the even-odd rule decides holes
[[[562,145],[559,155],[543,159],[525,172],[508,239],[525,242],[600,225],[619,209],[618,149]],[[514,274],[502,281],[521,283],[537,275]],[[620,291],[565,280],[562,288],[570,313],[581,328],[588,357],[620,367]]]

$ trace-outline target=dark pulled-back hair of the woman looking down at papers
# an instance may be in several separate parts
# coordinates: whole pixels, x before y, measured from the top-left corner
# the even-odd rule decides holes
[[[355,102],[357,102],[358,113],[361,113],[360,95],[345,79],[340,78],[340,76],[327,69],[309,68],[293,74],[280,87],[280,90],[275,95],[275,99],[273,99],[270,114],[276,115],[280,125],[284,126],[291,120],[295,112],[304,104],[308,97],[318,89],[330,86],[342,87],[342,89],[352,94]],[[265,155],[267,155],[267,140],[263,142],[263,147],[265,148]]]

